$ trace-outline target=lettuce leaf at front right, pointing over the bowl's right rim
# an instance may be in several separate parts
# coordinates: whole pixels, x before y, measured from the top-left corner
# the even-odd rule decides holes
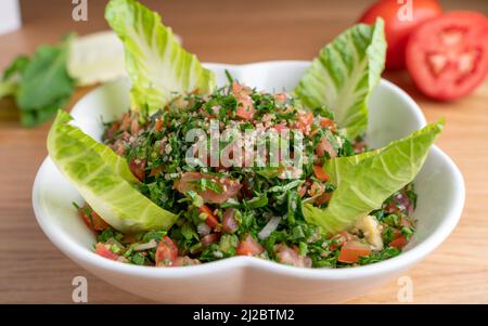
[[[380,209],[389,196],[413,181],[442,126],[429,125],[384,148],[329,160],[324,169],[336,190],[324,209],[304,205],[306,220],[335,234]]]

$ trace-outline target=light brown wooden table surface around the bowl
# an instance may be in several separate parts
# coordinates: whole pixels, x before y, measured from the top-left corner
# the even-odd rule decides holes
[[[72,1],[24,0],[23,29],[0,36],[0,69],[21,53],[55,42],[66,31],[80,35],[106,29],[106,1],[89,1],[88,22],[72,19]],[[205,62],[247,63],[310,60],[355,22],[372,1],[143,1],[157,9],[182,36],[185,48]],[[446,10],[488,14],[488,1],[441,1]],[[458,3],[457,3],[458,2]],[[427,259],[408,272],[413,302],[488,303],[488,82],[455,103],[432,102],[414,90],[406,74],[388,74],[420,104],[428,121],[446,117],[437,144],[464,174],[467,196],[461,222]],[[76,99],[87,92],[78,90]],[[0,102],[0,302],[72,302],[72,279],[88,278],[89,302],[143,303],[90,275],[63,256],[36,223],[30,192],[47,155],[50,123],[24,129],[10,101]],[[396,303],[397,281],[351,303]]]

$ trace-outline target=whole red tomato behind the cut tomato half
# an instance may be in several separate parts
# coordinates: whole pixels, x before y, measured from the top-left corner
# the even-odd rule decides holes
[[[410,34],[422,22],[440,15],[442,10],[436,0],[414,0],[398,3],[397,0],[381,0],[371,6],[359,19],[361,23],[374,24],[376,17],[385,21],[385,36],[388,42],[386,68],[404,68],[404,53]],[[411,3],[411,19],[408,5]]]

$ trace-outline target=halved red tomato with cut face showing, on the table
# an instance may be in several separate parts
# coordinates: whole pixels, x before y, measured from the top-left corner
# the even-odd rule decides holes
[[[488,74],[488,19],[451,12],[425,22],[410,37],[407,67],[429,97],[452,101],[471,93]]]

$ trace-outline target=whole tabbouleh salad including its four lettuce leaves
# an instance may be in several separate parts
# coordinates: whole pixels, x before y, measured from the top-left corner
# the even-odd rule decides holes
[[[129,110],[105,123],[102,142],[63,110],[48,135],[52,161],[85,199],[75,207],[95,232],[95,253],[157,268],[234,256],[348,268],[409,243],[412,182],[444,122],[368,148],[368,102],[385,64],[381,18],[326,44],[288,93],[229,71],[217,88],[215,73],[136,0],[108,1],[105,18],[125,47]],[[249,132],[256,144],[198,135],[204,145],[193,147],[194,130]],[[288,153],[259,152],[277,143]],[[205,162],[215,156],[233,164]]]

